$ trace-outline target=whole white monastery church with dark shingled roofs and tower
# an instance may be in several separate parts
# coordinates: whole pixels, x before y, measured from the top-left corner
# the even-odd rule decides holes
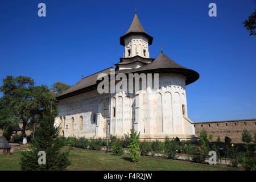
[[[186,85],[199,78],[199,73],[185,68],[162,51],[150,58],[148,47],[153,38],[144,31],[135,13],[133,22],[120,44],[123,57],[115,68],[107,68],[82,78],[77,84],[57,96],[60,125],[65,137],[106,138],[108,134],[121,137],[134,129],[141,140],[164,140],[179,137],[195,139],[195,127],[188,118]],[[159,73],[159,87],[140,89],[136,93],[98,93],[97,76],[125,73]],[[152,76],[153,77],[153,76]]]

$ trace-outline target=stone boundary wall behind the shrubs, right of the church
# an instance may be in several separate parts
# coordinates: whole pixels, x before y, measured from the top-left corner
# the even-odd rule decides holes
[[[200,136],[201,130],[207,131],[207,134],[212,134],[212,141],[217,141],[220,137],[221,142],[224,142],[225,137],[232,139],[234,143],[242,142],[243,129],[248,130],[252,137],[256,133],[256,119],[236,119],[227,121],[210,121],[210,122],[195,122],[194,123],[196,136]]]

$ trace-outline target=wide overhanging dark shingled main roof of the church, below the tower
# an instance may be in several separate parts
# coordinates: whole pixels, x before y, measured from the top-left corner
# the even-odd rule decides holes
[[[111,68],[112,67],[104,69],[101,72],[94,73],[88,77],[82,78],[82,80],[77,82],[77,84],[73,85],[71,88],[57,96],[57,100],[62,100],[64,98],[76,96],[78,94],[97,89],[98,74],[106,73],[110,75]],[[176,73],[185,76],[186,85],[191,84],[199,78],[199,73],[175,63],[164,53],[160,53],[160,55],[154,61],[152,61],[152,63],[143,65],[141,68],[116,70],[115,74],[118,73]]]

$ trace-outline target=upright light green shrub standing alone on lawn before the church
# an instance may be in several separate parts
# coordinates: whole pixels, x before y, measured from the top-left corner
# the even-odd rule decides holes
[[[133,162],[137,162],[139,160],[141,150],[139,148],[139,134],[131,129],[130,137],[128,138],[129,146],[128,146],[128,154]]]

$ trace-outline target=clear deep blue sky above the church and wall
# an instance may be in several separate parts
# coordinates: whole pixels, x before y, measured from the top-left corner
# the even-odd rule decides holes
[[[46,3],[46,17],[38,4]],[[217,5],[217,17],[208,5]],[[194,122],[256,118],[256,37],[242,22],[256,1],[0,0],[0,79],[30,76],[37,85],[76,84],[118,63],[134,7],[154,37],[150,57],[163,52],[199,72],[187,86]]]

